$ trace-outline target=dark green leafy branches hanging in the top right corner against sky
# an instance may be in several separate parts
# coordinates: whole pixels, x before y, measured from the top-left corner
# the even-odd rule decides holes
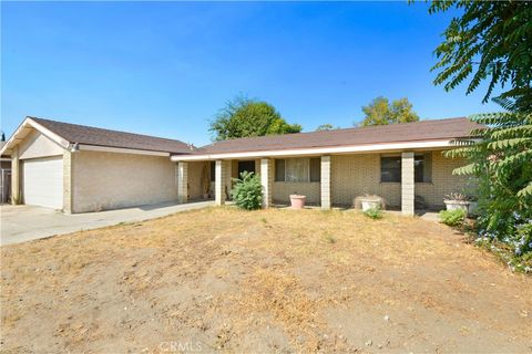
[[[434,84],[450,91],[468,80],[467,94],[484,80],[489,85],[483,102],[493,90],[510,111],[532,108],[532,6],[528,1],[433,1],[430,13],[457,8],[462,15],[453,18],[443,33],[444,42],[434,53],[439,62]],[[505,84],[510,86],[504,91]]]

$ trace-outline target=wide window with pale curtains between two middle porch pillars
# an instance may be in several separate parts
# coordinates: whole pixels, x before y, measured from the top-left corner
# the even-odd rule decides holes
[[[321,162],[319,158],[286,158],[275,160],[275,181],[319,181]]]

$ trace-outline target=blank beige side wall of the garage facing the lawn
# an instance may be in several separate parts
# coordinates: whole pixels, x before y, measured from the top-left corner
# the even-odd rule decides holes
[[[72,155],[73,212],[176,200],[176,183],[168,157],[83,150]]]

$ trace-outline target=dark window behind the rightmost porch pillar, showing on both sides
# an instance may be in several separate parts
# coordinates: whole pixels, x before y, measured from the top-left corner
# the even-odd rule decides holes
[[[401,181],[401,156],[380,157],[380,181]],[[413,181],[432,181],[432,154],[417,154],[413,157]]]

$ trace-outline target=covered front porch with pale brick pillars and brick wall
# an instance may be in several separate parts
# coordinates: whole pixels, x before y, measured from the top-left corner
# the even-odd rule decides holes
[[[231,199],[232,178],[256,173],[263,185],[263,207],[289,202],[289,195],[307,197],[321,209],[350,208],[364,195],[380,196],[387,209],[412,216],[416,209],[443,208],[443,197],[463,189],[463,177],[452,170],[463,162],[442,156],[441,149],[342,155],[277,156],[243,159],[180,160],[180,202],[207,198],[216,205]]]

